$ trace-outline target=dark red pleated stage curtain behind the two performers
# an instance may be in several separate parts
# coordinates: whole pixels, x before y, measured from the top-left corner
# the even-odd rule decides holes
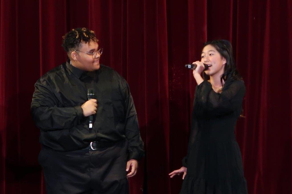
[[[45,193],[30,117],[36,80],[66,60],[62,36],[96,32],[102,63],[126,78],[146,156],[131,194],[178,193],[195,82],[184,64],[206,40],[232,42],[246,84],[237,124],[249,193],[291,193],[292,0],[1,0],[0,193]]]

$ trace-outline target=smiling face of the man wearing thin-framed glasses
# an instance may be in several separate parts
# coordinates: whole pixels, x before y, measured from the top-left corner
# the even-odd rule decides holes
[[[77,53],[77,60],[78,60],[78,67],[81,70],[84,71],[95,71],[100,68],[99,59],[100,54],[97,54],[96,57],[93,59],[91,54],[87,53],[93,53],[98,50],[98,43],[95,43],[93,41],[90,41],[89,43],[81,43],[79,51],[75,51]],[[84,53],[87,52],[87,53]]]

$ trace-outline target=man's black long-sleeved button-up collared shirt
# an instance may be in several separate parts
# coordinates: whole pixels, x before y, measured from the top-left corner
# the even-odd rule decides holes
[[[126,80],[104,65],[85,72],[69,61],[50,70],[35,83],[31,114],[41,130],[41,144],[56,151],[85,148],[92,141],[128,140],[128,159],[143,155],[137,113]],[[81,105],[93,88],[98,100],[93,129],[88,129]]]

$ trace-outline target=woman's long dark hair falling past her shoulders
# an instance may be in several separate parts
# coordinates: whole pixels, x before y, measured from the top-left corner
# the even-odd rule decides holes
[[[226,64],[224,67],[224,73],[221,75],[221,84],[223,86],[223,80],[227,79],[242,80],[239,75],[233,58],[232,45],[228,40],[212,40],[204,43],[204,47],[207,45],[212,45],[220,53],[221,57],[226,59]],[[204,48],[203,47],[203,48]],[[208,76],[204,73],[204,79]]]

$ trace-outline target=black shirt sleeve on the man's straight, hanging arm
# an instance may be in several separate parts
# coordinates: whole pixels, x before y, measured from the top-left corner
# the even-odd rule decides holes
[[[129,86],[122,78],[122,93],[124,96],[125,135],[128,139],[128,160],[140,160],[144,156],[143,141],[140,136],[138,117]]]

